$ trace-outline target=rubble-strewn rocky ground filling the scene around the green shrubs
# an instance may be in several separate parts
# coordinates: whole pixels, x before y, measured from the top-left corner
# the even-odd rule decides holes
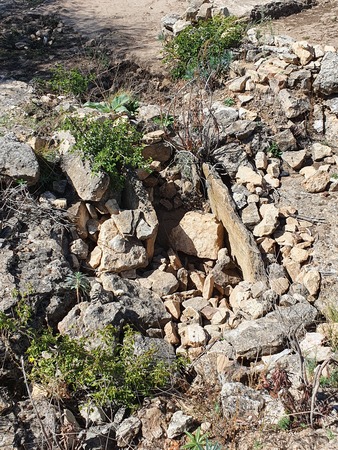
[[[250,27],[229,78],[211,91],[147,67],[159,16],[186,5],[142,4],[137,17],[151,35],[135,26],[131,36],[131,3],[128,14],[120,3],[114,10],[116,30],[106,29],[105,3],[0,4],[1,447],[178,449],[200,427],[214,449],[334,449],[338,57],[324,21],[303,39],[315,14],[334,26],[335,5]],[[100,38],[86,32],[93,20]],[[327,42],[318,43],[322,29]],[[116,31],[118,52],[109,47]],[[129,47],[140,65],[119,61]],[[93,110],[31,82],[56,61],[103,73],[94,100],[121,87],[141,100],[124,120],[142,130],[152,163],[122,194],[59,130],[61,116]],[[191,142],[202,158],[186,151]],[[70,292],[74,273],[88,289]],[[91,341],[105,325],[128,323],[140,332],[135,357],[155,348],[165,364],[190,362],[132,415],[88,412],[67,387],[36,381],[27,397],[20,356],[29,335],[4,318],[22,301],[36,329]],[[48,351],[42,362],[57,346]]]

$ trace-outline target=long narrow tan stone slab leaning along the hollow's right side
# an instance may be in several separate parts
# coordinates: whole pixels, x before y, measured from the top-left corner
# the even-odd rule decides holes
[[[265,280],[266,273],[261,254],[251,234],[238,217],[228,188],[218,175],[203,165],[207,179],[208,197],[212,211],[222,221],[229,239],[230,251],[247,281]]]

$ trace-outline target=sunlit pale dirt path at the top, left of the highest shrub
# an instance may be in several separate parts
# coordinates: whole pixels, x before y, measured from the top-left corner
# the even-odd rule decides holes
[[[183,14],[188,0],[56,0],[37,10],[56,12],[85,38],[104,37],[116,56],[159,68],[161,18]]]

